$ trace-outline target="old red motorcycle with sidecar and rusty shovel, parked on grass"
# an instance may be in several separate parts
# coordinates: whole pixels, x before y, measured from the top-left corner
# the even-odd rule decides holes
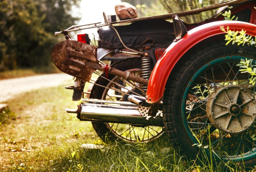
[[[105,24],[86,27],[102,27],[98,48],[71,40],[68,32],[81,30],[81,26],[62,31],[67,40],[54,47],[52,57],[61,71],[77,78],[75,86],[68,88],[82,95],[86,81],[94,84],[90,98],[82,98],[78,110],[67,112],[92,121],[104,141],[118,138],[146,142],[163,136],[164,127],[180,153],[196,157],[203,147],[207,154],[213,152],[216,161],[255,164],[255,86],[249,83],[249,74],[239,72],[238,65],[245,58],[255,63],[255,47],[225,46],[225,33],[220,29],[229,26],[230,30],[244,29],[255,36],[255,2],[231,0],[176,14],[191,15],[226,5],[232,5],[232,12],[241,21],[221,21],[220,14],[191,25],[174,14],[112,22],[105,17]],[[172,27],[153,23],[171,16]],[[128,22],[132,24],[113,26]],[[151,40],[149,34],[143,44],[135,44],[137,39],[145,39],[143,33],[151,31],[149,27],[139,32],[142,36],[134,35],[136,39],[126,32],[121,34],[125,28],[143,28],[147,22],[157,25],[154,31],[162,33],[160,39],[156,36]],[[169,33],[164,32],[167,28]],[[169,40],[171,35],[174,41]],[[166,50],[165,38],[171,44]],[[97,49],[120,56],[136,53],[137,57],[108,66],[101,61],[105,54],[98,54]],[[93,73],[99,75],[97,80],[91,78]]]

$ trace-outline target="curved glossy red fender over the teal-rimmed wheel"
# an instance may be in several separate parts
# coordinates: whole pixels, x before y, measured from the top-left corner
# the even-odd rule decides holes
[[[212,22],[188,31],[180,40],[173,42],[166,49],[166,53],[157,61],[149,79],[147,90],[148,103],[155,103],[163,97],[168,76],[182,55],[206,38],[218,34],[225,34],[221,31],[220,26],[224,26],[225,30],[229,26],[229,29],[232,31],[241,31],[244,29],[247,34],[256,35],[256,25],[239,21]],[[223,35],[224,39],[225,37]]]

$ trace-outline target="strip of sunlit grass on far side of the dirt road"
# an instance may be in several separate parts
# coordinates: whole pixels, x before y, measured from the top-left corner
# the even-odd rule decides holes
[[[0,80],[25,77],[25,76],[41,75],[41,74],[53,74],[53,73],[60,73],[60,71],[54,65],[40,67],[40,68],[34,67],[34,68],[28,68],[28,69],[16,69],[16,70],[0,72]]]

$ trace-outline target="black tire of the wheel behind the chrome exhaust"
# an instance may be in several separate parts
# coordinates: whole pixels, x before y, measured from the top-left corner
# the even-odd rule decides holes
[[[134,58],[127,58],[124,60],[120,60],[116,63],[113,63],[111,67],[121,70],[121,71],[127,71],[131,69],[141,69],[141,57],[134,57]],[[106,74],[102,74],[104,77],[106,77]],[[115,75],[109,75],[108,79],[113,79]],[[96,81],[97,84],[107,86],[109,83],[108,80],[104,79],[103,77],[99,77]],[[102,95],[104,93],[105,88],[101,86],[94,85],[90,98],[96,98],[96,99],[102,99]],[[145,119],[146,120],[146,119]],[[121,142],[129,142],[128,140],[122,140],[121,138],[118,138],[112,131],[110,131],[107,123],[104,122],[92,122],[92,126],[94,130],[96,131],[97,135],[104,141],[104,142],[113,142],[115,140],[121,141]],[[163,129],[164,132],[164,129]]]

